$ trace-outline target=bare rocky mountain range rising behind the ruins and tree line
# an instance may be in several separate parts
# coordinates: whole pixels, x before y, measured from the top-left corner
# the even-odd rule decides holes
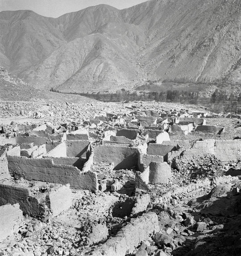
[[[115,91],[144,80],[241,82],[240,0],[151,0],[58,17],[0,13],[0,66],[37,88]]]

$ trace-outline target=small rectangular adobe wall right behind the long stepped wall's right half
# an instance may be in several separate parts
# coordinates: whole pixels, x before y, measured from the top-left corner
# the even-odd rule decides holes
[[[90,142],[88,140],[66,140],[67,157],[85,157]]]

